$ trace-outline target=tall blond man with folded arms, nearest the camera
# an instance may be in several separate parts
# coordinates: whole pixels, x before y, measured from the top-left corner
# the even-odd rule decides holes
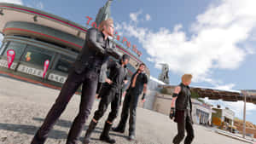
[[[103,20],[100,31],[90,28],[86,34],[84,47],[79,53],[73,68],[70,69],[67,81],[63,84],[55,104],[49,110],[44,124],[40,127],[32,140],[32,144],[44,144],[49,130],[53,128],[61,113],[67,107],[73,94],[83,84],[79,114],[74,119],[67,136],[67,144],[77,144],[84,123],[90,115],[96,95],[99,72],[102,63],[106,62],[108,55],[119,58],[115,45],[109,40],[113,36],[113,20]]]

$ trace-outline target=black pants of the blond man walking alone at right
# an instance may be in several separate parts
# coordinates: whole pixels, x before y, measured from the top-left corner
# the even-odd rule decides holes
[[[173,139],[174,144],[179,144],[183,141],[185,136],[185,130],[187,131],[187,136],[185,138],[184,144],[190,144],[194,139],[194,129],[193,129],[193,122],[192,117],[190,115],[190,111],[176,111],[177,118],[177,135]]]

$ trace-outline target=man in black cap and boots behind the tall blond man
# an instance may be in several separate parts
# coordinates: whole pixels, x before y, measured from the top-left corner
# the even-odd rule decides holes
[[[113,120],[117,117],[119,111],[122,88],[124,84],[127,83],[126,65],[128,64],[129,59],[129,55],[123,55],[119,62],[108,60],[107,67],[110,69],[109,77],[106,77],[106,83],[103,84],[102,90],[99,94],[99,97],[102,99],[93,119],[90,121],[89,128],[84,136],[84,144],[90,143],[91,132],[96,128],[96,124],[99,119],[102,118],[103,114],[106,112],[109,103],[111,103],[111,112],[108,115],[100,140],[108,143],[115,143],[115,140],[109,137],[109,130],[111,129]]]

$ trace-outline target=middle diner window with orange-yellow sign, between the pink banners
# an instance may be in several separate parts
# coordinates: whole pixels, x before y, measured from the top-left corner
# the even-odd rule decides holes
[[[49,60],[49,62],[51,62],[53,55],[55,55],[55,53],[52,51],[28,45],[21,61],[44,67],[44,61]]]

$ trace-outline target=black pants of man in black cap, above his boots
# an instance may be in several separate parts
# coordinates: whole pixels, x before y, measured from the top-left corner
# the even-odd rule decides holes
[[[99,107],[94,113],[94,119],[98,121],[100,118],[102,118],[103,114],[108,109],[109,103],[111,103],[111,112],[108,114],[107,121],[113,122],[113,120],[117,117],[119,112],[119,105],[120,105],[120,94],[116,91],[116,89],[108,89],[103,90],[106,91],[108,94],[100,94],[102,99],[100,101]]]

